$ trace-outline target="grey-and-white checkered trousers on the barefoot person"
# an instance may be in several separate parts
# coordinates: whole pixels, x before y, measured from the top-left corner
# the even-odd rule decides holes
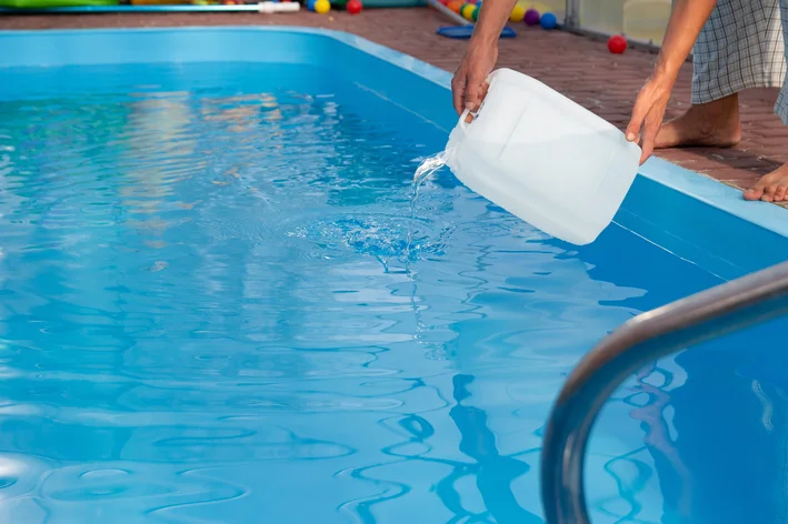
[[[782,87],[784,27],[788,29],[788,0],[719,0],[692,48],[692,103],[742,89]],[[785,108],[785,118],[778,112],[785,121],[788,94],[782,93],[775,110]]]

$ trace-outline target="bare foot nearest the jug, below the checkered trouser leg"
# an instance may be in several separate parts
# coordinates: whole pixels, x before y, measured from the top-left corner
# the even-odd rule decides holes
[[[681,117],[662,124],[655,149],[682,147],[731,148],[741,140],[739,97],[691,105]]]

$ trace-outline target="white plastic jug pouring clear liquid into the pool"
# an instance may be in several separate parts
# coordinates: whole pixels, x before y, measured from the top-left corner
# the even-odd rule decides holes
[[[446,163],[471,191],[560,240],[594,242],[638,172],[640,148],[583,107],[499,69],[478,113],[449,135]]]

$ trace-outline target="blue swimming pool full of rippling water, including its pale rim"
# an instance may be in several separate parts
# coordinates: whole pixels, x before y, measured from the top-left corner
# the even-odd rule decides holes
[[[578,359],[788,253],[785,210],[660,161],[583,248],[449,172],[413,199],[448,74],[349,34],[0,49],[3,522],[541,522],[541,431]],[[594,522],[780,518],[784,333],[622,387]]]

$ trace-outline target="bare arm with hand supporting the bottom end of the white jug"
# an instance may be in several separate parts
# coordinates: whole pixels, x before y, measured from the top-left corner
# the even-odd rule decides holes
[[[676,0],[665,31],[662,48],[651,77],[640,90],[627,127],[627,140],[640,142],[645,162],[654,151],[654,141],[662,125],[670,92],[681,64],[692,50],[700,30],[709,19],[717,0]]]

